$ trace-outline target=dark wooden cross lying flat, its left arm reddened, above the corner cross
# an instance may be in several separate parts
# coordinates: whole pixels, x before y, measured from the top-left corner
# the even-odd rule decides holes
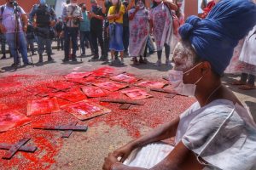
[[[61,138],[68,138],[73,131],[80,131],[80,132],[86,132],[88,127],[87,126],[82,126],[78,125],[78,122],[73,122],[69,125],[57,125],[57,126],[52,126],[52,125],[38,125],[33,127],[34,129],[42,129],[42,130],[61,130],[65,131]]]

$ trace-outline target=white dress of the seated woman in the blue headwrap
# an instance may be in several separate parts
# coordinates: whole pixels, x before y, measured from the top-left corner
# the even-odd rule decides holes
[[[176,144],[182,141],[195,155],[207,161],[204,170],[256,169],[253,167],[256,163],[256,125],[246,109],[230,100],[214,100],[204,107],[199,103],[192,105],[180,116],[175,141]],[[154,145],[148,144],[144,150],[133,152],[125,164],[154,167],[160,162],[155,155],[162,160],[171,152],[163,154],[162,150],[172,150],[168,144],[160,144],[160,149]],[[138,159],[137,155],[140,155]]]

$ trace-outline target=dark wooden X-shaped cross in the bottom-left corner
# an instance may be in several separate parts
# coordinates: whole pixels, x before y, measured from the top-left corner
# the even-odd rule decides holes
[[[32,152],[34,153],[36,150],[38,150],[37,147],[34,146],[25,146],[25,144],[30,139],[21,139],[16,144],[0,144],[1,150],[8,150],[6,154],[2,157],[3,159],[11,159],[13,156],[15,156],[15,153],[18,151],[25,151],[25,152]]]

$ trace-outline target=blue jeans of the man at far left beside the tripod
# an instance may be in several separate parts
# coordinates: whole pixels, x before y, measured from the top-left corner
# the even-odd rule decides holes
[[[14,57],[14,64],[18,65],[19,64],[19,54],[18,50],[21,54],[21,57],[23,59],[23,63],[27,64],[28,59],[27,59],[27,49],[26,49],[26,37],[23,32],[18,33],[18,41],[17,41],[17,46],[15,46],[15,33],[7,33],[5,34],[6,41],[9,45],[9,50],[12,56]],[[16,47],[16,48],[15,48]]]

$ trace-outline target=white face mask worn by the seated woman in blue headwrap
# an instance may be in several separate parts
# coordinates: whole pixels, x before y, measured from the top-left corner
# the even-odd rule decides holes
[[[201,65],[198,64],[198,65]],[[169,81],[172,84],[172,87],[174,90],[181,95],[186,95],[186,96],[195,96],[195,89],[196,89],[196,84],[201,81],[201,78],[198,79],[194,84],[184,84],[183,83],[183,75],[188,74],[190,71],[195,69],[198,65],[195,65],[192,69],[189,71],[186,71],[183,73],[183,71],[170,71],[169,72]]]

